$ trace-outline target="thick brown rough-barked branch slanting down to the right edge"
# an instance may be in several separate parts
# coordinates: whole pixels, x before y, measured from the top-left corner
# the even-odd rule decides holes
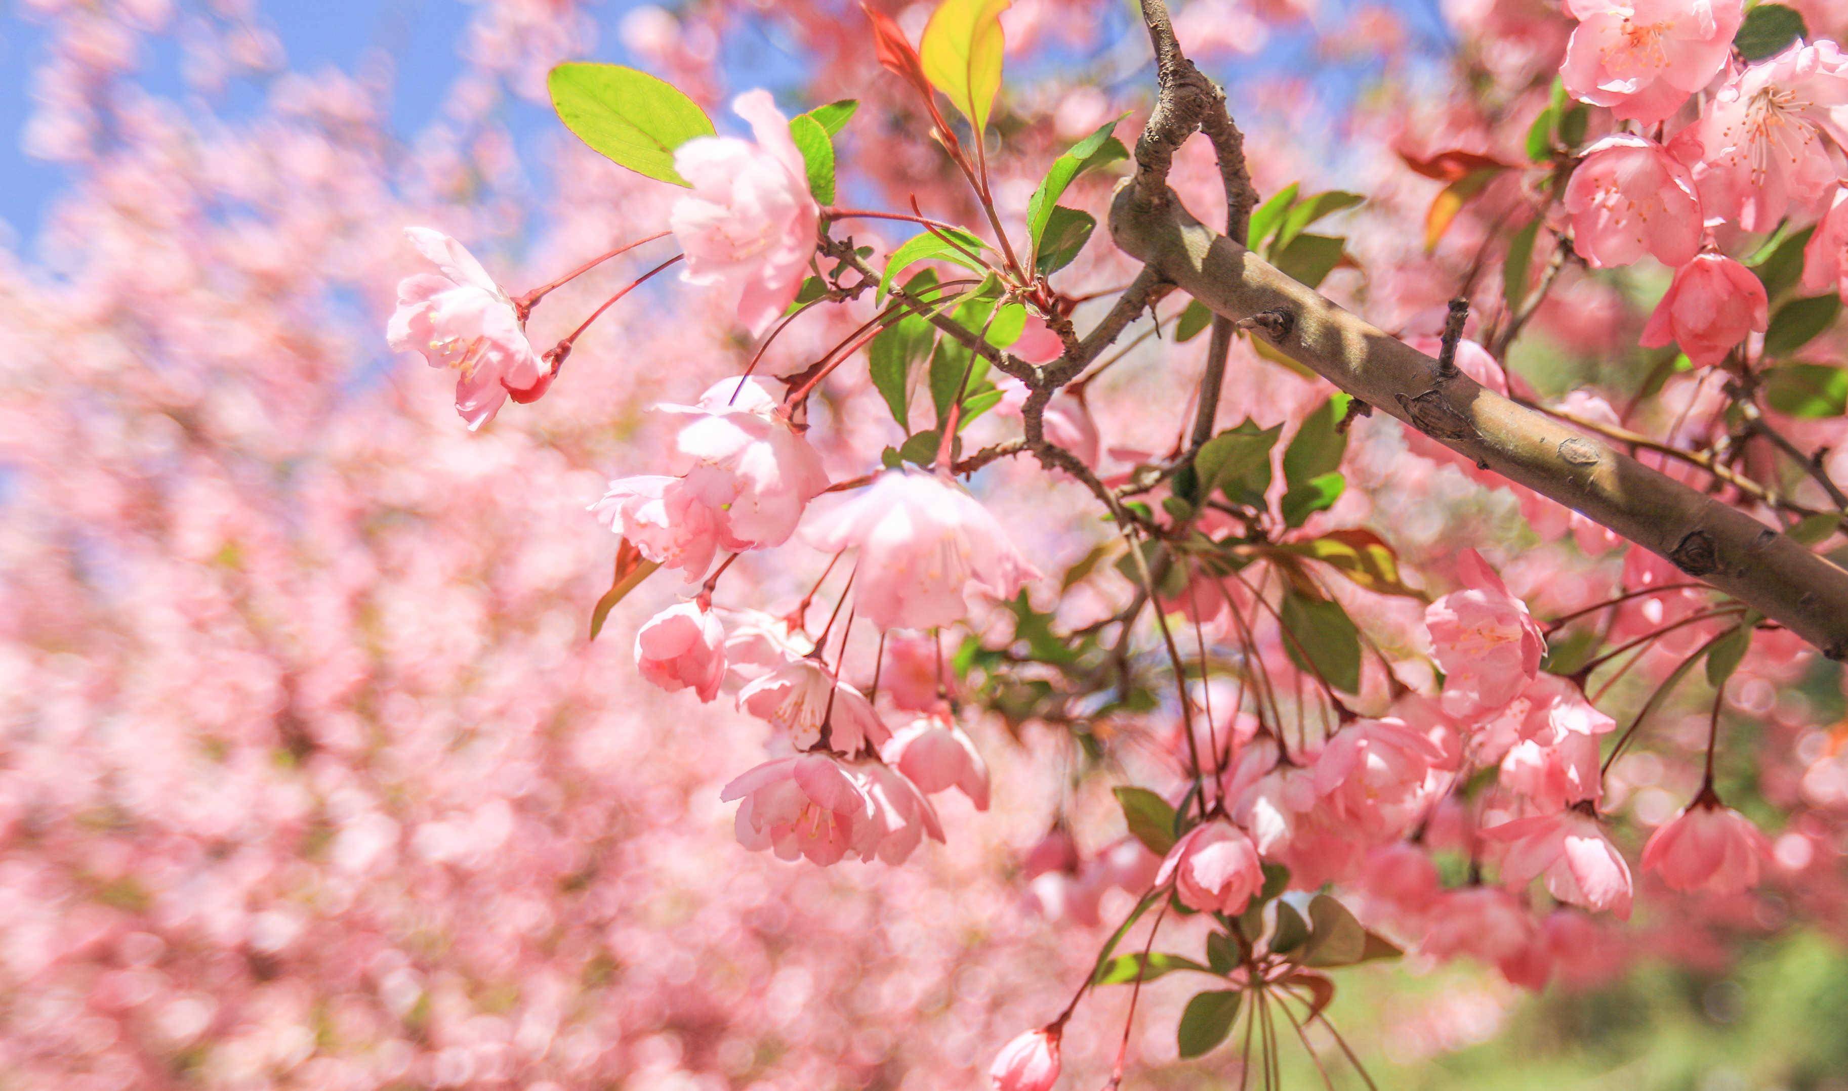
[[[1292,360],[1356,399],[1661,554],[1831,659],[1848,657],[1848,572],[1745,511],[1460,371],[1440,375],[1430,356],[1201,225],[1172,192],[1151,194],[1146,181],[1131,179],[1116,194],[1116,246],[1216,316],[1270,316],[1246,329],[1262,330]]]

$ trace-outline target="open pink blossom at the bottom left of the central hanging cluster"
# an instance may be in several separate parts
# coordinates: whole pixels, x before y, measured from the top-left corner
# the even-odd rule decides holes
[[[867,786],[826,753],[767,761],[726,785],[719,799],[743,799],[736,820],[741,845],[772,849],[784,860],[835,864],[883,834]]]

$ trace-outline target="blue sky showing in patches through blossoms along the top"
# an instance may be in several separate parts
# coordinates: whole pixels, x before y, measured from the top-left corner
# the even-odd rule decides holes
[[[615,24],[638,2],[604,0],[593,7],[602,22],[591,52],[595,59],[625,59],[615,41]],[[1125,6],[1116,0],[1098,2],[1107,20],[1122,24],[1112,30],[1140,33],[1140,28],[1127,24]],[[1397,0],[1397,6],[1427,46],[1441,48],[1447,35],[1436,15],[1436,0]],[[423,126],[442,102],[455,76],[458,37],[471,15],[471,6],[462,0],[262,0],[261,7],[296,70],[312,72],[331,65],[353,72],[370,52],[388,52],[397,65],[392,120],[401,135]],[[0,2],[0,242],[30,247],[44,209],[65,185],[67,174],[20,150],[20,133],[31,109],[30,72],[43,54],[46,35],[35,22],[6,11],[7,6]],[[767,28],[747,28],[732,35],[724,61],[730,83],[741,87],[780,87],[800,72],[800,59]],[[1318,89],[1334,103],[1351,94],[1366,74],[1364,68],[1329,72],[1314,59],[1307,35],[1283,35],[1258,57],[1238,61],[1216,76],[1236,79],[1310,65],[1321,76]],[[179,48],[168,39],[153,41],[142,57],[139,79],[159,96],[177,102],[190,96],[179,78]],[[257,87],[237,85],[214,109],[235,114],[251,109],[259,98]],[[551,131],[554,124],[543,107],[529,103],[512,107],[508,122],[519,137]]]

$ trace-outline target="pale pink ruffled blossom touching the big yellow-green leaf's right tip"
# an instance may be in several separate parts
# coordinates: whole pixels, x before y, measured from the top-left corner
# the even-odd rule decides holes
[[[680,279],[736,297],[737,321],[761,334],[808,275],[821,207],[771,92],[747,90],[732,111],[750,122],[756,144],[737,137],[682,144],[675,170],[693,192],[675,201],[667,222],[687,255]]]

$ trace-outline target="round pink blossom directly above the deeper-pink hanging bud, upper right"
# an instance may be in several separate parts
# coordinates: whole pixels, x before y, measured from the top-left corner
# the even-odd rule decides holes
[[[1615,133],[1586,150],[1565,185],[1573,249],[1593,268],[1645,253],[1684,266],[1700,253],[1700,196],[1687,168],[1654,140]]]

